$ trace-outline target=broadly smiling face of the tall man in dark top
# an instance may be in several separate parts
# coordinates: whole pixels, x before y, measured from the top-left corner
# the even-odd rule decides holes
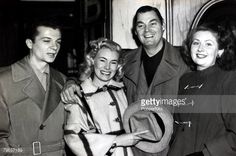
[[[157,47],[162,41],[163,31],[161,21],[154,11],[138,14],[135,34],[144,47]]]

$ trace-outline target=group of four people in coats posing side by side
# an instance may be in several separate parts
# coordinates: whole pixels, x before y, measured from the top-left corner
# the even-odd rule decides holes
[[[63,155],[65,139],[81,156],[235,155],[236,57],[230,29],[199,26],[188,34],[182,53],[163,39],[164,29],[158,9],[140,7],[133,28],[140,47],[122,54],[111,40],[90,42],[81,83],[68,83],[61,93],[66,78],[48,65],[60,49],[60,28],[34,25],[26,39],[30,54],[0,73],[0,153]],[[149,131],[124,132],[128,105],[144,96],[178,94],[195,103],[167,107],[175,120],[169,146],[156,153],[136,148]]]

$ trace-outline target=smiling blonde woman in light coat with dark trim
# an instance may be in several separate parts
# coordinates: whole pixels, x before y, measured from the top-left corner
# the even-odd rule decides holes
[[[90,42],[91,50],[80,66],[82,98],[66,105],[65,140],[76,155],[132,156],[129,146],[140,137],[125,134],[122,116],[127,108],[121,47],[102,38]],[[141,132],[142,133],[142,132]]]

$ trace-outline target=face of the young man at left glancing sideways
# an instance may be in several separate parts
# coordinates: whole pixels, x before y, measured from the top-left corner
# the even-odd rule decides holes
[[[28,39],[31,58],[37,63],[52,63],[61,46],[61,32],[59,29],[39,26],[34,41]]]

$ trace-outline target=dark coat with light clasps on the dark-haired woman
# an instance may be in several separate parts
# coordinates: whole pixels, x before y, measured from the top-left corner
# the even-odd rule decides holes
[[[200,151],[204,156],[236,155],[235,81],[234,71],[222,71],[217,66],[181,78],[179,97],[193,103],[176,110],[169,156]]]

